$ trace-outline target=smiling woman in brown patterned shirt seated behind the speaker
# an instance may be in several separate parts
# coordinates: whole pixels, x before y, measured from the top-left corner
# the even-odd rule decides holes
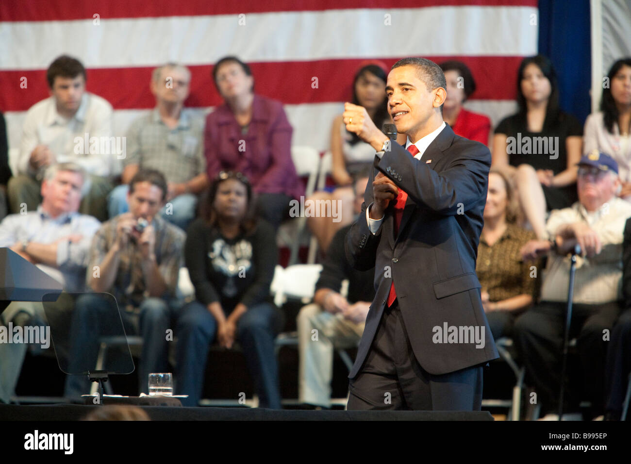
[[[536,237],[531,230],[516,225],[518,208],[509,177],[491,169],[476,273],[494,340],[512,336],[515,319],[536,298],[541,272],[538,261],[521,259],[521,248]],[[531,266],[535,266],[534,274]]]

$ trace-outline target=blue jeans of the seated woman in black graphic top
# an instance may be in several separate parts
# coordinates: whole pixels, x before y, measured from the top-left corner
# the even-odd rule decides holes
[[[274,339],[281,325],[280,311],[269,303],[249,307],[237,321],[236,339],[243,347],[245,362],[262,408],[281,409],[278,362]],[[184,406],[197,406],[204,385],[208,347],[215,340],[215,317],[198,301],[182,308],[175,326],[175,391],[189,395]]]

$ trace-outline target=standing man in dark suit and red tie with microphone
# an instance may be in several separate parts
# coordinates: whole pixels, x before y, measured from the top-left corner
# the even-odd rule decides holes
[[[445,76],[406,58],[387,79],[407,151],[346,104],[346,129],[377,151],[362,214],[346,235],[358,270],[375,266],[348,409],[480,410],[482,366],[498,357],[475,273],[491,155],[442,120]]]

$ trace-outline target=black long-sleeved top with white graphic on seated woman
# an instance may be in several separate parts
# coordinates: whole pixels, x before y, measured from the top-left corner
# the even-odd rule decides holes
[[[184,258],[199,302],[218,301],[230,313],[240,302],[250,307],[269,300],[278,263],[275,237],[262,220],[250,234],[233,239],[203,219],[195,220],[187,231]]]

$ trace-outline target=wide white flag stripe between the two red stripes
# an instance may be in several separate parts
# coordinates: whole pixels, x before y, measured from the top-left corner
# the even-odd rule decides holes
[[[0,69],[45,69],[62,53],[87,68],[403,56],[528,56],[529,6],[341,9],[165,18],[2,23]],[[389,17],[386,15],[390,15]],[[390,22],[391,25],[386,25]]]

